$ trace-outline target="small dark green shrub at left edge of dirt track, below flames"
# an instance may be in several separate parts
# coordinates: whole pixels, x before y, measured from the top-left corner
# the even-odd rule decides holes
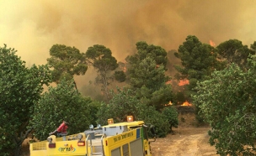
[[[170,131],[173,132],[172,127],[178,127],[179,120],[178,120],[178,111],[175,107],[165,107],[163,109],[163,115],[168,119],[170,124]]]

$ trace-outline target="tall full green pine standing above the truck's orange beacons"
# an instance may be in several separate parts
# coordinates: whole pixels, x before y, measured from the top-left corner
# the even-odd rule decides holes
[[[139,99],[160,110],[172,99],[172,88],[165,84],[167,52],[146,42],[138,42],[136,48],[138,52],[126,58],[129,84]]]

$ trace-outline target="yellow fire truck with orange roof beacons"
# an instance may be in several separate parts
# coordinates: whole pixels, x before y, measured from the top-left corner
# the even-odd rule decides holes
[[[127,122],[114,123],[109,119],[108,123],[103,127],[90,127],[83,133],[61,138],[51,135],[45,141],[30,143],[30,156],[152,156],[143,121],[133,121],[133,117],[128,116]],[[154,129],[151,130],[154,133]]]

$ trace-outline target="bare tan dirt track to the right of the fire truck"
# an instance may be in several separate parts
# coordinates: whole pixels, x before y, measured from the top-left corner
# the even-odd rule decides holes
[[[208,143],[210,127],[196,127],[193,113],[179,114],[179,127],[174,134],[157,138],[151,143],[152,156],[216,156],[215,147]],[[29,156],[28,146],[24,146],[22,156]]]

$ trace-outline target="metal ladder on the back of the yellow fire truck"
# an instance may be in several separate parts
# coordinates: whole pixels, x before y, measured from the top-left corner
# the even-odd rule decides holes
[[[103,139],[106,137],[107,135],[104,133],[99,140],[99,139],[93,139],[90,133],[87,134],[87,138],[86,138],[87,151],[88,151],[88,148],[90,148],[90,153],[88,153],[88,156],[93,156],[93,155],[105,156]]]

